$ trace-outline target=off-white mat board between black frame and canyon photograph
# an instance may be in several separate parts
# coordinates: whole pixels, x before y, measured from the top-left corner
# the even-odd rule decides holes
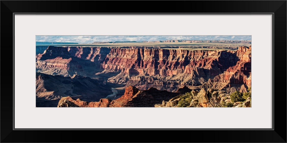
[[[35,35],[252,35],[252,108],[35,108]],[[15,128],[272,128],[272,15],[16,14]]]

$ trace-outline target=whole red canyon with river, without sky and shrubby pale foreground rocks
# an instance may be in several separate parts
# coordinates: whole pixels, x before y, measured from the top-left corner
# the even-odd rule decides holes
[[[251,46],[238,46],[250,43],[158,43],[36,46],[36,106],[154,107],[180,90],[230,94],[251,86]]]

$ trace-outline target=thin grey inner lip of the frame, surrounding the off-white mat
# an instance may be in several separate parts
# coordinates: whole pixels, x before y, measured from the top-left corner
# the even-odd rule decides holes
[[[15,128],[15,14],[272,14],[272,128]],[[252,35],[251,35],[252,41]],[[252,43],[251,43],[252,44]],[[251,81],[252,82],[252,81]],[[12,130],[274,130],[274,13],[13,13],[13,129]]]

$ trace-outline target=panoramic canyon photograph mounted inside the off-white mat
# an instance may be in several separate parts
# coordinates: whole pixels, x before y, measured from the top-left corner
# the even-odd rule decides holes
[[[251,35],[36,35],[38,107],[251,107]]]

